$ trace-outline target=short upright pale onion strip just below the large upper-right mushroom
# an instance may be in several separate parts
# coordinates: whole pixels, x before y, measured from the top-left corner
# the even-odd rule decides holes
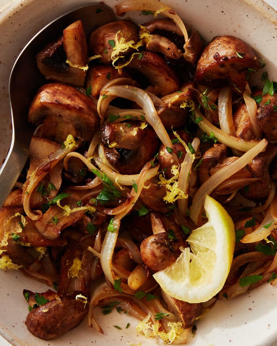
[[[218,117],[221,130],[236,136],[232,115],[232,94],[233,90],[229,85],[220,90],[218,95]]]

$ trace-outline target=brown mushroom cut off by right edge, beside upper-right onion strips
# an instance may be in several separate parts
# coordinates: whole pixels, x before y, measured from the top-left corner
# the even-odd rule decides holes
[[[269,104],[267,104],[269,103]],[[268,140],[277,140],[277,94],[262,95],[257,119]]]

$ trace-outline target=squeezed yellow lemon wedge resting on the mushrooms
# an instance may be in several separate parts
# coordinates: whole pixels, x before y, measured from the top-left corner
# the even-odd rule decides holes
[[[154,274],[167,294],[189,303],[200,303],[218,293],[229,274],[235,247],[234,223],[221,206],[206,195],[208,222],[187,238],[190,248],[181,248],[176,262]]]

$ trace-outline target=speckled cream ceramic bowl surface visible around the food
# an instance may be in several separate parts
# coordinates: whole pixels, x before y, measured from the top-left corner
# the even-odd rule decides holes
[[[7,3],[7,0],[2,1],[2,4]],[[17,55],[28,40],[48,22],[68,10],[88,3],[90,1],[85,0],[14,0],[0,12],[0,163],[7,154],[11,139],[8,80]],[[275,77],[276,80],[277,12],[268,4],[261,0],[170,0],[168,3],[185,23],[200,31],[207,41],[216,35],[235,35],[246,40],[255,48],[260,58],[265,58],[265,70],[270,79]],[[117,1],[106,0],[105,4],[114,8]],[[128,16],[140,24],[150,19],[131,12]],[[54,37],[49,37],[49,42],[52,39]],[[257,75],[260,78],[260,74]],[[260,83],[260,80],[256,83]],[[103,316],[98,308],[95,309],[95,316],[104,330],[104,335],[88,328],[84,320],[79,327],[58,340],[40,340],[31,335],[24,324],[28,313],[28,306],[22,295],[24,288],[37,292],[47,290],[44,284],[29,279],[20,272],[0,272],[0,334],[12,345],[86,346],[140,342],[148,346],[161,342],[158,338],[148,340],[138,336],[135,329],[137,320],[131,316],[119,315],[117,312]],[[196,322],[196,335],[194,338],[189,335],[188,344],[270,346],[277,340],[276,288],[264,284],[231,301],[216,302],[210,312]],[[128,322],[130,327],[126,329]],[[114,328],[113,325],[121,326],[122,330]]]

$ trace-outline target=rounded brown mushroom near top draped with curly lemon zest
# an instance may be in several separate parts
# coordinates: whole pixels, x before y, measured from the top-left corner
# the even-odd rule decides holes
[[[105,65],[109,65],[112,62],[111,54],[115,46],[117,34],[117,38],[120,40],[119,31],[125,39],[125,42],[133,41],[135,44],[138,43],[138,29],[130,20],[110,22],[100,26],[90,34],[90,50],[93,55],[101,55],[100,59]],[[120,53],[120,56],[126,56],[132,50],[132,48],[129,48],[126,52]]]

